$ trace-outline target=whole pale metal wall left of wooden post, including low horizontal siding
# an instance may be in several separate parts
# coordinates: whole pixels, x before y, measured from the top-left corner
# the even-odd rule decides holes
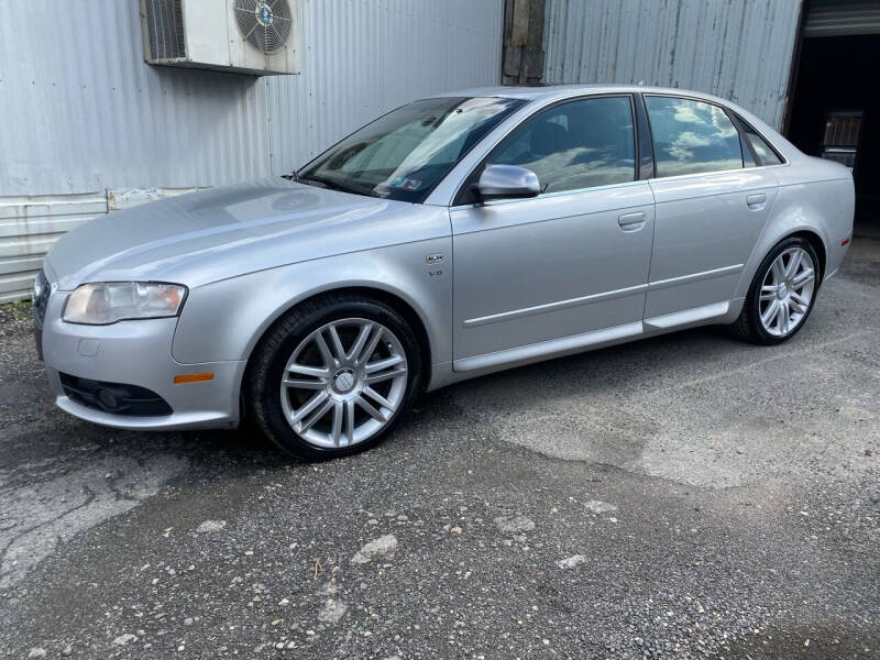
[[[499,78],[503,0],[300,0],[302,74],[268,78],[146,65],[139,4],[0,0],[0,301],[121,188],[290,172],[380,112]]]

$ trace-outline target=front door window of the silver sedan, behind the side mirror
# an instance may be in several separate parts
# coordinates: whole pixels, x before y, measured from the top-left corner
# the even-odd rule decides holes
[[[544,193],[631,182],[636,147],[629,97],[580,99],[539,112],[486,164],[530,169]]]

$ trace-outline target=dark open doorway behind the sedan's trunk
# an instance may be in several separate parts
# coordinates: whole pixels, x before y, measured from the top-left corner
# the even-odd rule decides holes
[[[880,34],[804,38],[788,138],[851,165],[856,222],[880,231]]]

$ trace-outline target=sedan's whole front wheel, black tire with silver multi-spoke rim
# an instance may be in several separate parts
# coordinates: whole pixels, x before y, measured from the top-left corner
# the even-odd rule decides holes
[[[270,328],[244,393],[256,425],[276,446],[320,461],[382,442],[420,381],[419,344],[399,314],[371,298],[329,294]]]

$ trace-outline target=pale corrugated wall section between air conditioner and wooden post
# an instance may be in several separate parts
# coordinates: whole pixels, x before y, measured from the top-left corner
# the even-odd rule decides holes
[[[300,8],[301,74],[266,79],[274,174],[410,100],[498,84],[504,0],[300,0]]]

